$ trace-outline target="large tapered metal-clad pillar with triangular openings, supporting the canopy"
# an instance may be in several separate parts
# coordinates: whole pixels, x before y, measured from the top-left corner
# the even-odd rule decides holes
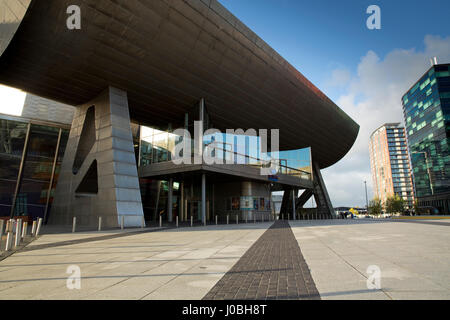
[[[109,87],[78,106],[61,166],[49,223],[142,225],[142,203],[126,92]]]

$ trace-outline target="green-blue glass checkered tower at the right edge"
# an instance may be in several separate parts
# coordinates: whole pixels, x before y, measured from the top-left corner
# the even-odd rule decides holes
[[[418,205],[450,212],[450,64],[432,66],[403,96]]]

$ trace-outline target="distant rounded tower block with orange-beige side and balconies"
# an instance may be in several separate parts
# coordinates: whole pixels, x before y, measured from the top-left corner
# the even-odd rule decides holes
[[[375,196],[383,204],[400,196],[407,209],[414,207],[414,188],[406,143],[405,128],[400,123],[386,123],[370,136],[370,168]]]

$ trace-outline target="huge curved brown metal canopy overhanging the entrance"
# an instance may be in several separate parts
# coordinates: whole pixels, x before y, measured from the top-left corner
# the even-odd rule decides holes
[[[69,5],[81,30],[66,27]],[[282,150],[310,146],[321,168],[359,131],[216,0],[33,0],[0,57],[0,83],[71,105],[111,85],[145,125],[182,125],[204,98],[215,128],[278,128]]]

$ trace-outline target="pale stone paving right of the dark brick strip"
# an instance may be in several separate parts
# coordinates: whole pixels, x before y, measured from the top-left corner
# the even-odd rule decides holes
[[[450,299],[447,225],[370,220],[290,221],[322,299]],[[380,290],[367,286],[369,266]]]

